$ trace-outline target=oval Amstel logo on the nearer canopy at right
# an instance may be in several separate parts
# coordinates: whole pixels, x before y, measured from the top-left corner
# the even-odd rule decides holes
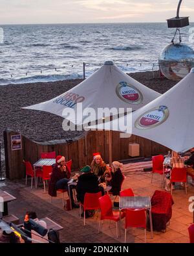
[[[165,122],[169,116],[169,110],[166,106],[147,111],[142,114],[136,122],[135,127],[138,129],[150,129]]]

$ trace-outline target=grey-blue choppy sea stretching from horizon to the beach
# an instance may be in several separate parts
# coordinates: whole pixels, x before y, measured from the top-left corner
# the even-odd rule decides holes
[[[193,27],[180,29],[190,47]],[[81,79],[83,63],[89,77],[107,60],[125,73],[151,71],[174,34],[166,22],[0,25],[0,85]]]

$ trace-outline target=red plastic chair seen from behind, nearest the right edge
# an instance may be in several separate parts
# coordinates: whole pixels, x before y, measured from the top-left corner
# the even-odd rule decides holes
[[[171,170],[171,194],[173,194],[173,182],[184,182],[185,192],[187,191],[187,169],[186,168],[173,168]]]

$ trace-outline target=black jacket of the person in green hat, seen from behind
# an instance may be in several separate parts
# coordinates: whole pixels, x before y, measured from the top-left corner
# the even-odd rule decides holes
[[[83,203],[85,193],[98,193],[100,188],[98,186],[98,177],[94,173],[83,173],[78,177],[77,198]]]

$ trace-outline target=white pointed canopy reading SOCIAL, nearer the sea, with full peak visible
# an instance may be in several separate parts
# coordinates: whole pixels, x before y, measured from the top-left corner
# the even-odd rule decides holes
[[[23,109],[42,110],[65,117],[63,110],[76,109],[78,103],[82,103],[83,109],[93,108],[96,112],[98,108],[113,107],[136,110],[158,96],[160,96],[158,92],[138,83],[116,67],[113,62],[105,62],[98,71],[69,91],[49,101]],[[77,110],[76,114],[80,118],[81,110],[80,112]],[[71,114],[65,118],[76,125],[85,123],[84,118],[81,120]],[[97,119],[94,118],[94,120]]]

